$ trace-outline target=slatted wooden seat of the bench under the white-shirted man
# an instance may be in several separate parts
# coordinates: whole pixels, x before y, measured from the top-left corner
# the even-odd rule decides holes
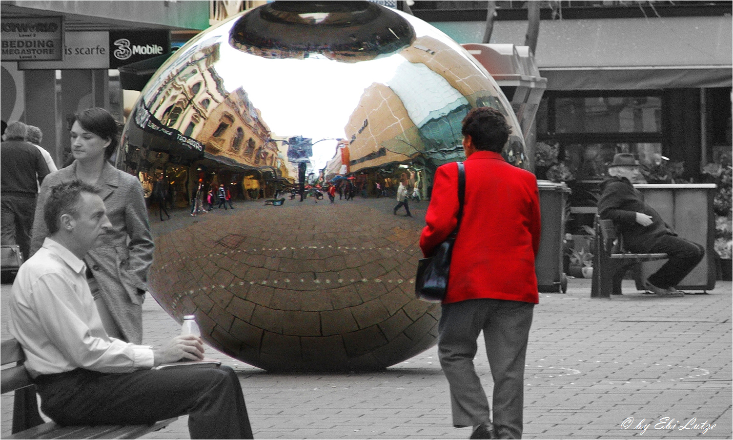
[[[7,439],[137,439],[144,434],[163,429],[176,420],[178,417],[152,425],[97,426],[61,426],[48,422],[8,436]]]

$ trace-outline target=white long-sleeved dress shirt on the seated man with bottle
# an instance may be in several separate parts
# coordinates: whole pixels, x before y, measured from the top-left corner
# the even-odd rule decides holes
[[[23,346],[32,377],[75,368],[128,373],[153,366],[150,346],[107,335],[84,261],[50,238],[18,269],[9,307],[8,329]]]

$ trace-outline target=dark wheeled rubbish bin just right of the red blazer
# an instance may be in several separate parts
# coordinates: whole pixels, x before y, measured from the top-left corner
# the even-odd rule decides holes
[[[542,237],[534,260],[537,288],[541,292],[565,293],[567,277],[562,266],[562,242],[565,238],[565,206],[570,188],[564,183],[538,180]]]

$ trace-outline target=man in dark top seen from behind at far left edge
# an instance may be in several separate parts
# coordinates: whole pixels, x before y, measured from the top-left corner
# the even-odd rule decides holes
[[[0,242],[18,245],[29,258],[38,187],[48,175],[43,154],[26,142],[28,127],[10,122],[0,143]]]

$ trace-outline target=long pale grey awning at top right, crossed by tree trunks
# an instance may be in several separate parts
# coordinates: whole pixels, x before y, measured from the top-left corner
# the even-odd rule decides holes
[[[548,90],[732,86],[733,18],[542,20],[535,61]],[[433,22],[458,42],[480,41],[483,21]],[[526,20],[498,20],[492,42],[522,45]]]

